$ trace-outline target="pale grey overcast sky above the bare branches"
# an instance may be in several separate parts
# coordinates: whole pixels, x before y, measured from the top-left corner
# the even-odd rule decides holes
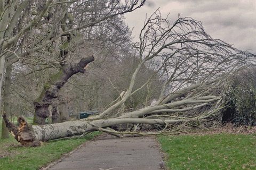
[[[256,53],[255,0],[147,0],[145,6],[125,14],[126,23],[133,28],[135,41],[138,41],[146,14],[151,15],[158,7],[163,18],[170,13],[171,23],[178,19],[179,13],[181,17],[189,16],[201,21],[212,38]]]

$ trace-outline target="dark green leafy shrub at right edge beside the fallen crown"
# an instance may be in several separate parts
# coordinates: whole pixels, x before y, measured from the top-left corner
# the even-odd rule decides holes
[[[246,69],[230,78],[226,92],[229,107],[222,121],[240,125],[256,125],[256,68]]]

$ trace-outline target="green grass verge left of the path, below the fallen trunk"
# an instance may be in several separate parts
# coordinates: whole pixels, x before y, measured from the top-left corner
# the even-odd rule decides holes
[[[38,169],[98,134],[100,133],[92,132],[81,138],[52,140],[36,148],[21,147],[13,137],[0,139],[0,169]]]

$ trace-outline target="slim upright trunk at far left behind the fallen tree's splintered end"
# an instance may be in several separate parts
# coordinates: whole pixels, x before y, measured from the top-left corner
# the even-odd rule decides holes
[[[10,117],[11,105],[10,105],[10,88],[11,88],[11,76],[12,76],[12,64],[6,67],[5,81],[4,81],[4,112],[7,117]],[[5,126],[4,120],[2,121],[2,139],[9,138],[9,131]]]

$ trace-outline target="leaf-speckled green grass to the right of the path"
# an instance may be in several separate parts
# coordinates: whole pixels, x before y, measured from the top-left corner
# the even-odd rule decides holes
[[[170,169],[256,169],[256,134],[161,136]]]

